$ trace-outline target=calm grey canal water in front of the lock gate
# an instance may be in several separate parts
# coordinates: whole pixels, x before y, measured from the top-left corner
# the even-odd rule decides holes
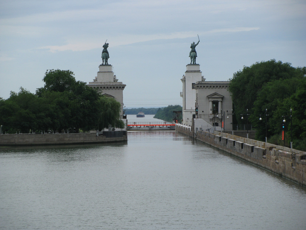
[[[2,149],[0,229],[306,229],[306,190],[172,131]]]

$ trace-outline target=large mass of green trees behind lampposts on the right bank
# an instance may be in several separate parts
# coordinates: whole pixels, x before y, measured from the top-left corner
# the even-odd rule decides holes
[[[285,131],[286,146],[290,146],[291,126],[290,109],[293,110],[293,142],[294,148],[306,150],[306,67],[294,68],[290,63],[267,62],[255,63],[238,71],[230,79],[230,94],[232,96],[236,118],[241,122],[240,114],[250,114],[249,122],[256,128],[256,139],[264,140],[267,136],[272,144],[284,144],[279,139],[282,116],[286,116]],[[265,115],[265,110],[268,116]],[[262,120],[259,121],[261,115]],[[291,134],[291,133],[290,133]]]

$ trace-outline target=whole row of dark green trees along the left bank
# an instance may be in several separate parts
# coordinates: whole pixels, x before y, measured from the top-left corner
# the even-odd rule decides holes
[[[72,71],[47,70],[43,82],[35,94],[21,87],[8,99],[0,99],[2,133],[124,128],[121,104],[76,81]]]

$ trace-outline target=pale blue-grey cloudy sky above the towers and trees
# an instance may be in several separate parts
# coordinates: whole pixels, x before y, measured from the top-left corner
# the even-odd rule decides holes
[[[275,59],[306,66],[305,0],[0,0],[0,98],[47,70],[92,82],[107,39],[126,108],[182,105],[190,44],[206,81]]]

